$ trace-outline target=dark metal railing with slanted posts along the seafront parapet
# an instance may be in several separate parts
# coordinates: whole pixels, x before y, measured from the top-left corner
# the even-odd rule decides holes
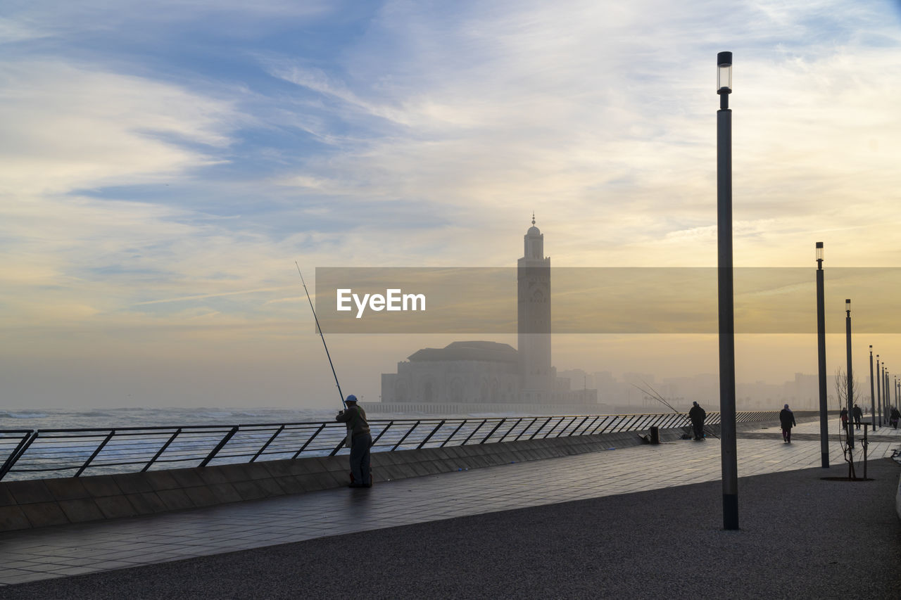
[[[773,411],[738,413],[737,423],[778,420]],[[720,422],[708,413],[706,424]],[[638,432],[689,425],[685,414],[371,419],[373,451],[542,440],[573,435]],[[118,427],[113,429],[0,430],[0,479],[79,477],[258,460],[334,456],[344,449],[345,425],[255,423]]]

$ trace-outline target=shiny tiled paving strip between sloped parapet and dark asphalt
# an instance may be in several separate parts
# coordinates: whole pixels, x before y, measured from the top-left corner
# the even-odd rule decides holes
[[[837,431],[834,423],[833,429]],[[799,439],[791,444],[783,443],[775,428],[741,434],[739,476],[819,467],[820,443],[811,439],[819,423],[801,423],[795,432]],[[871,437],[870,459],[891,456],[901,448],[901,430],[884,427]],[[331,489],[7,532],[0,534],[0,584],[712,481],[721,474],[719,450],[716,439],[676,441],[390,481],[372,489]],[[841,460],[839,444],[830,441],[831,463]]]

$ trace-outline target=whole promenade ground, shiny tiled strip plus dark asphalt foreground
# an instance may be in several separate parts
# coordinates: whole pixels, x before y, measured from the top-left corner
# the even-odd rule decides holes
[[[740,532],[719,442],[675,441],[7,532],[0,597],[898,597],[901,431],[866,482],[818,432],[740,434]]]

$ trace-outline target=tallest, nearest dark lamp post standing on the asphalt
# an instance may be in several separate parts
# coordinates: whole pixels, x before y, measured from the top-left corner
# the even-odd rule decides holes
[[[720,459],[723,528],[738,529],[738,456],[735,444],[735,314],[732,243],[732,52],[716,55],[716,247],[720,317]]]

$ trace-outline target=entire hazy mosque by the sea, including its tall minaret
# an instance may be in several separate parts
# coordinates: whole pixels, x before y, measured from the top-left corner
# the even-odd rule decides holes
[[[569,379],[551,366],[551,258],[544,234],[525,233],[517,261],[517,345],[496,341],[454,341],[444,348],[416,350],[382,374],[381,402],[364,402],[368,412],[468,414],[590,414],[597,390],[570,391]]]

